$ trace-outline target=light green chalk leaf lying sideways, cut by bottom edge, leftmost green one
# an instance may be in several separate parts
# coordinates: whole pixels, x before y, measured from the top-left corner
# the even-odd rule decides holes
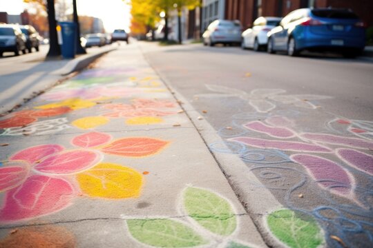
[[[175,220],[127,220],[127,225],[133,238],[153,247],[194,247],[208,243],[193,229]]]

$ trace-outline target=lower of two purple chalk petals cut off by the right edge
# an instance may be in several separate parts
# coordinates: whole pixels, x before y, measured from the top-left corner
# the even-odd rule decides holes
[[[336,149],[336,154],[347,165],[373,176],[373,156],[354,149]]]

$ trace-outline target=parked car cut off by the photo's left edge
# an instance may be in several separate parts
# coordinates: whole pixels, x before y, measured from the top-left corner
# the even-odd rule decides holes
[[[19,52],[26,54],[26,37],[18,25],[0,24],[0,56],[3,52]]]

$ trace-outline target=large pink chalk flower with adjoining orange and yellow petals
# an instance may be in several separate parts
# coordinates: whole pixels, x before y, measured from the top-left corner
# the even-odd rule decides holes
[[[74,199],[82,195],[137,198],[144,185],[143,175],[130,167],[102,162],[104,154],[151,156],[164,149],[169,141],[131,137],[111,142],[109,134],[89,132],[75,136],[70,143],[79,149],[36,145],[10,155],[8,161],[1,163],[1,223],[53,214],[73,205]]]

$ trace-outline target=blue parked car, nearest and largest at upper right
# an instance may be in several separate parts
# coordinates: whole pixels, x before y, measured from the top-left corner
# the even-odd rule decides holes
[[[327,50],[354,57],[364,50],[365,24],[351,10],[303,8],[287,14],[267,36],[269,53]]]

